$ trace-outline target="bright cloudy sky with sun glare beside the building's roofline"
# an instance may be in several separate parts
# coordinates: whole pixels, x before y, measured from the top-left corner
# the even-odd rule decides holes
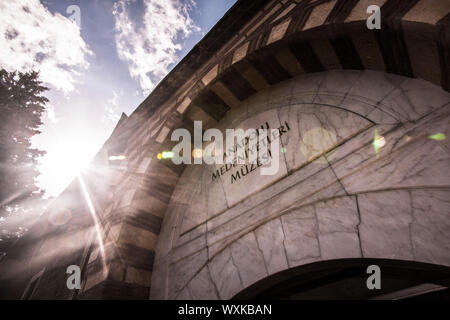
[[[0,67],[40,71],[33,147],[56,197],[236,0],[0,0]]]

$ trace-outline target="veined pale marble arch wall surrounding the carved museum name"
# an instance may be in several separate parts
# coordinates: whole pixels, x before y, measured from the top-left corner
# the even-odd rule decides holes
[[[298,76],[250,97],[218,127],[249,118],[255,126],[262,114],[290,121],[300,110],[338,138],[289,161],[295,147],[281,136],[286,170],[258,178],[256,189],[258,179],[227,193],[225,182],[207,182],[211,170],[188,166],[166,211],[150,297],[228,299],[271,274],[333,259],[450,265],[448,142],[429,138],[448,134],[449,103],[428,82],[374,71]],[[312,118],[298,119],[290,126],[301,138]],[[375,132],[385,141],[379,152]]]

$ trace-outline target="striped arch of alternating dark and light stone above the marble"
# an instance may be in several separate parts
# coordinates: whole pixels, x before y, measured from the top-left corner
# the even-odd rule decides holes
[[[259,32],[252,32],[251,25],[243,31],[246,36],[206,68],[177,110],[192,120],[203,116],[214,123],[259,90],[332,69],[380,70],[422,78],[448,90],[448,17],[443,8],[435,6],[439,14],[433,20],[426,1],[382,3],[383,25],[376,31],[362,20],[367,17],[364,1],[303,1],[268,8],[264,17],[272,21],[260,25]]]

